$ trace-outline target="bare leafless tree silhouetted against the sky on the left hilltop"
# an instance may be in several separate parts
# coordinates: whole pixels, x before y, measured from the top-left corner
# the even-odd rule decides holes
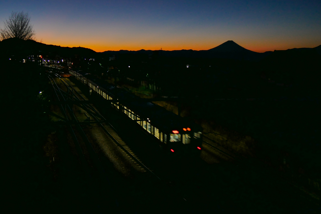
[[[4,22],[4,30],[0,29],[0,38],[2,40],[14,37],[24,40],[34,39],[36,33],[32,28],[28,13],[12,12],[9,21]]]

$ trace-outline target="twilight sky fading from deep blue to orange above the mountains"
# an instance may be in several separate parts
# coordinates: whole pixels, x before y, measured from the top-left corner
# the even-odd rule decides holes
[[[233,40],[256,52],[321,45],[321,1],[1,0],[0,27],[28,12],[38,41],[106,50],[208,50]]]

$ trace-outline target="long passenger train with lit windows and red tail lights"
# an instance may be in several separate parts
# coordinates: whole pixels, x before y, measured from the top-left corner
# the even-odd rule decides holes
[[[200,125],[92,74],[73,70],[69,70],[69,74],[86,85],[89,92],[103,99],[115,100],[110,102],[111,107],[128,120],[136,121],[144,132],[153,136],[160,147],[169,153],[197,154],[202,149],[203,129]]]

